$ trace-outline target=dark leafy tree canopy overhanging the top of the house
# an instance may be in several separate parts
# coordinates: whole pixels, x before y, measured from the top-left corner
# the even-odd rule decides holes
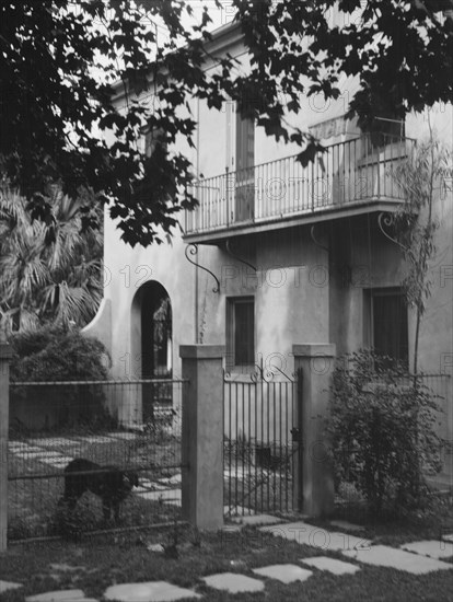
[[[112,201],[125,241],[162,242],[177,211],[194,206],[191,165],[165,143],[147,157],[138,140],[148,127],[162,142],[182,132],[194,144],[195,119],[179,111],[191,96],[211,107],[237,101],[268,135],[299,143],[303,163],[322,146],[287,125],[286,105],[297,113],[304,95],[338,97],[341,73],[360,79],[350,115],[368,127],[388,111],[403,117],[452,100],[453,0],[232,0],[252,57],[246,76],[230,56],[204,71],[208,5],[190,21],[186,0],[2,0],[0,170],[34,217],[51,222],[49,183],[70,197],[92,188]],[[113,103],[116,80],[124,112]],[[154,107],[133,100],[151,85]],[[109,131],[112,146],[100,136]],[[91,216],[86,207],[85,223]]]

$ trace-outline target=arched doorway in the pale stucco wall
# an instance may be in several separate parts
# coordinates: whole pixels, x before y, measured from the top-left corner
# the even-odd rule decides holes
[[[143,380],[172,378],[172,304],[155,280],[142,285],[132,301],[131,349],[136,375]],[[154,421],[156,406],[172,405],[172,384],[142,383],[141,417]]]

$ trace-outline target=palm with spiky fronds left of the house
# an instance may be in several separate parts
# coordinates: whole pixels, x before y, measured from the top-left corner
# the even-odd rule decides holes
[[[26,199],[0,189],[0,326],[85,325],[102,299],[102,232],[82,232],[80,209],[54,188],[51,220],[31,218]]]

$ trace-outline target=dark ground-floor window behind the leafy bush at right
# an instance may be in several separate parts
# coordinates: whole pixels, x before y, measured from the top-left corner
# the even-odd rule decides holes
[[[372,289],[371,336],[374,350],[406,367],[409,360],[407,302],[400,289]]]

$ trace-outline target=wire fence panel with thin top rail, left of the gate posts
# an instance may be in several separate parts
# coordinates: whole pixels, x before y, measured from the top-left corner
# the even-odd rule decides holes
[[[11,383],[10,541],[178,520],[186,384],[178,379]],[[82,470],[76,459],[86,461]],[[86,489],[69,506],[68,467],[72,484],[77,478],[76,487]],[[106,488],[112,509],[121,502],[118,520],[104,516]]]

